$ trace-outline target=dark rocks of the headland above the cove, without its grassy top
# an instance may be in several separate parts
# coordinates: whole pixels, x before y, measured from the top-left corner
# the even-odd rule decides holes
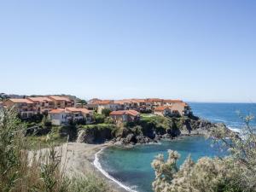
[[[174,139],[183,136],[207,136],[209,131],[218,126],[224,124],[212,123],[205,119],[199,118],[167,118],[171,123],[167,129],[159,129],[158,127],[151,126],[150,128],[144,128],[142,131],[132,131],[131,128],[120,128],[121,133],[114,137],[110,136],[110,131],[104,131],[99,133],[94,129],[80,130],[77,138],[78,143],[96,143],[96,140],[112,141],[112,143],[118,143],[121,145],[135,145],[146,143],[158,143],[162,139]],[[168,122],[169,122],[168,121]],[[143,128],[143,127],[142,127]],[[160,130],[160,131],[159,131]]]

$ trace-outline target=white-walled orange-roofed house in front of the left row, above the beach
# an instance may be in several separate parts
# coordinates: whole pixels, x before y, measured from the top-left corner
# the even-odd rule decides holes
[[[86,108],[57,108],[49,111],[48,118],[52,125],[67,125],[70,122],[92,122],[93,112]]]

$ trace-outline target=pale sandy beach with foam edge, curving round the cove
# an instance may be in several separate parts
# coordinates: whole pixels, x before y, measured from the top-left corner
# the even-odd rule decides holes
[[[175,138],[161,138],[157,143],[143,143],[143,144],[160,144],[161,140],[170,140],[173,139],[183,139],[183,137],[196,137],[206,136],[206,131],[196,131],[190,134],[182,133],[180,136]],[[131,144],[118,144],[109,141],[108,143],[102,144],[88,144],[88,143],[65,143],[57,148],[57,151],[64,151],[67,154],[61,154],[62,158],[67,158],[67,160],[62,160],[66,162],[66,171],[68,177],[73,177],[74,175],[79,175],[83,177],[86,175],[86,172],[93,172],[96,177],[102,178],[105,181],[113,192],[137,192],[135,189],[131,189],[131,187],[126,186],[124,183],[119,182],[116,178],[110,176],[108,172],[106,172],[102,165],[99,162],[98,154],[101,154],[105,148],[109,148],[112,146],[118,147],[135,147],[136,145],[141,145],[142,143],[137,143],[135,145]],[[64,149],[64,150],[63,150]],[[102,177],[103,176],[103,177]]]

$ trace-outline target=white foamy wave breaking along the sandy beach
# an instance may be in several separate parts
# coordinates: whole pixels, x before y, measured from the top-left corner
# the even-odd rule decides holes
[[[103,170],[102,168],[102,165],[100,163],[100,160],[99,160],[99,157],[98,157],[98,154],[102,153],[103,149],[101,149],[100,151],[98,151],[96,154],[95,154],[95,160],[93,161],[93,165],[100,171],[102,172],[102,174],[105,176],[105,177],[108,177],[108,179],[112,180],[114,183],[117,183],[121,188],[129,191],[129,192],[137,192],[137,190],[134,190],[134,189],[131,189],[130,187],[126,186],[125,184],[119,182],[117,179],[115,179],[114,177],[110,176],[108,174],[108,172],[106,172],[105,170]]]

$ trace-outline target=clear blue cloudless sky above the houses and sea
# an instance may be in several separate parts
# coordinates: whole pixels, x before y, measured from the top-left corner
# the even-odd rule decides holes
[[[256,1],[0,2],[0,92],[256,102]]]

